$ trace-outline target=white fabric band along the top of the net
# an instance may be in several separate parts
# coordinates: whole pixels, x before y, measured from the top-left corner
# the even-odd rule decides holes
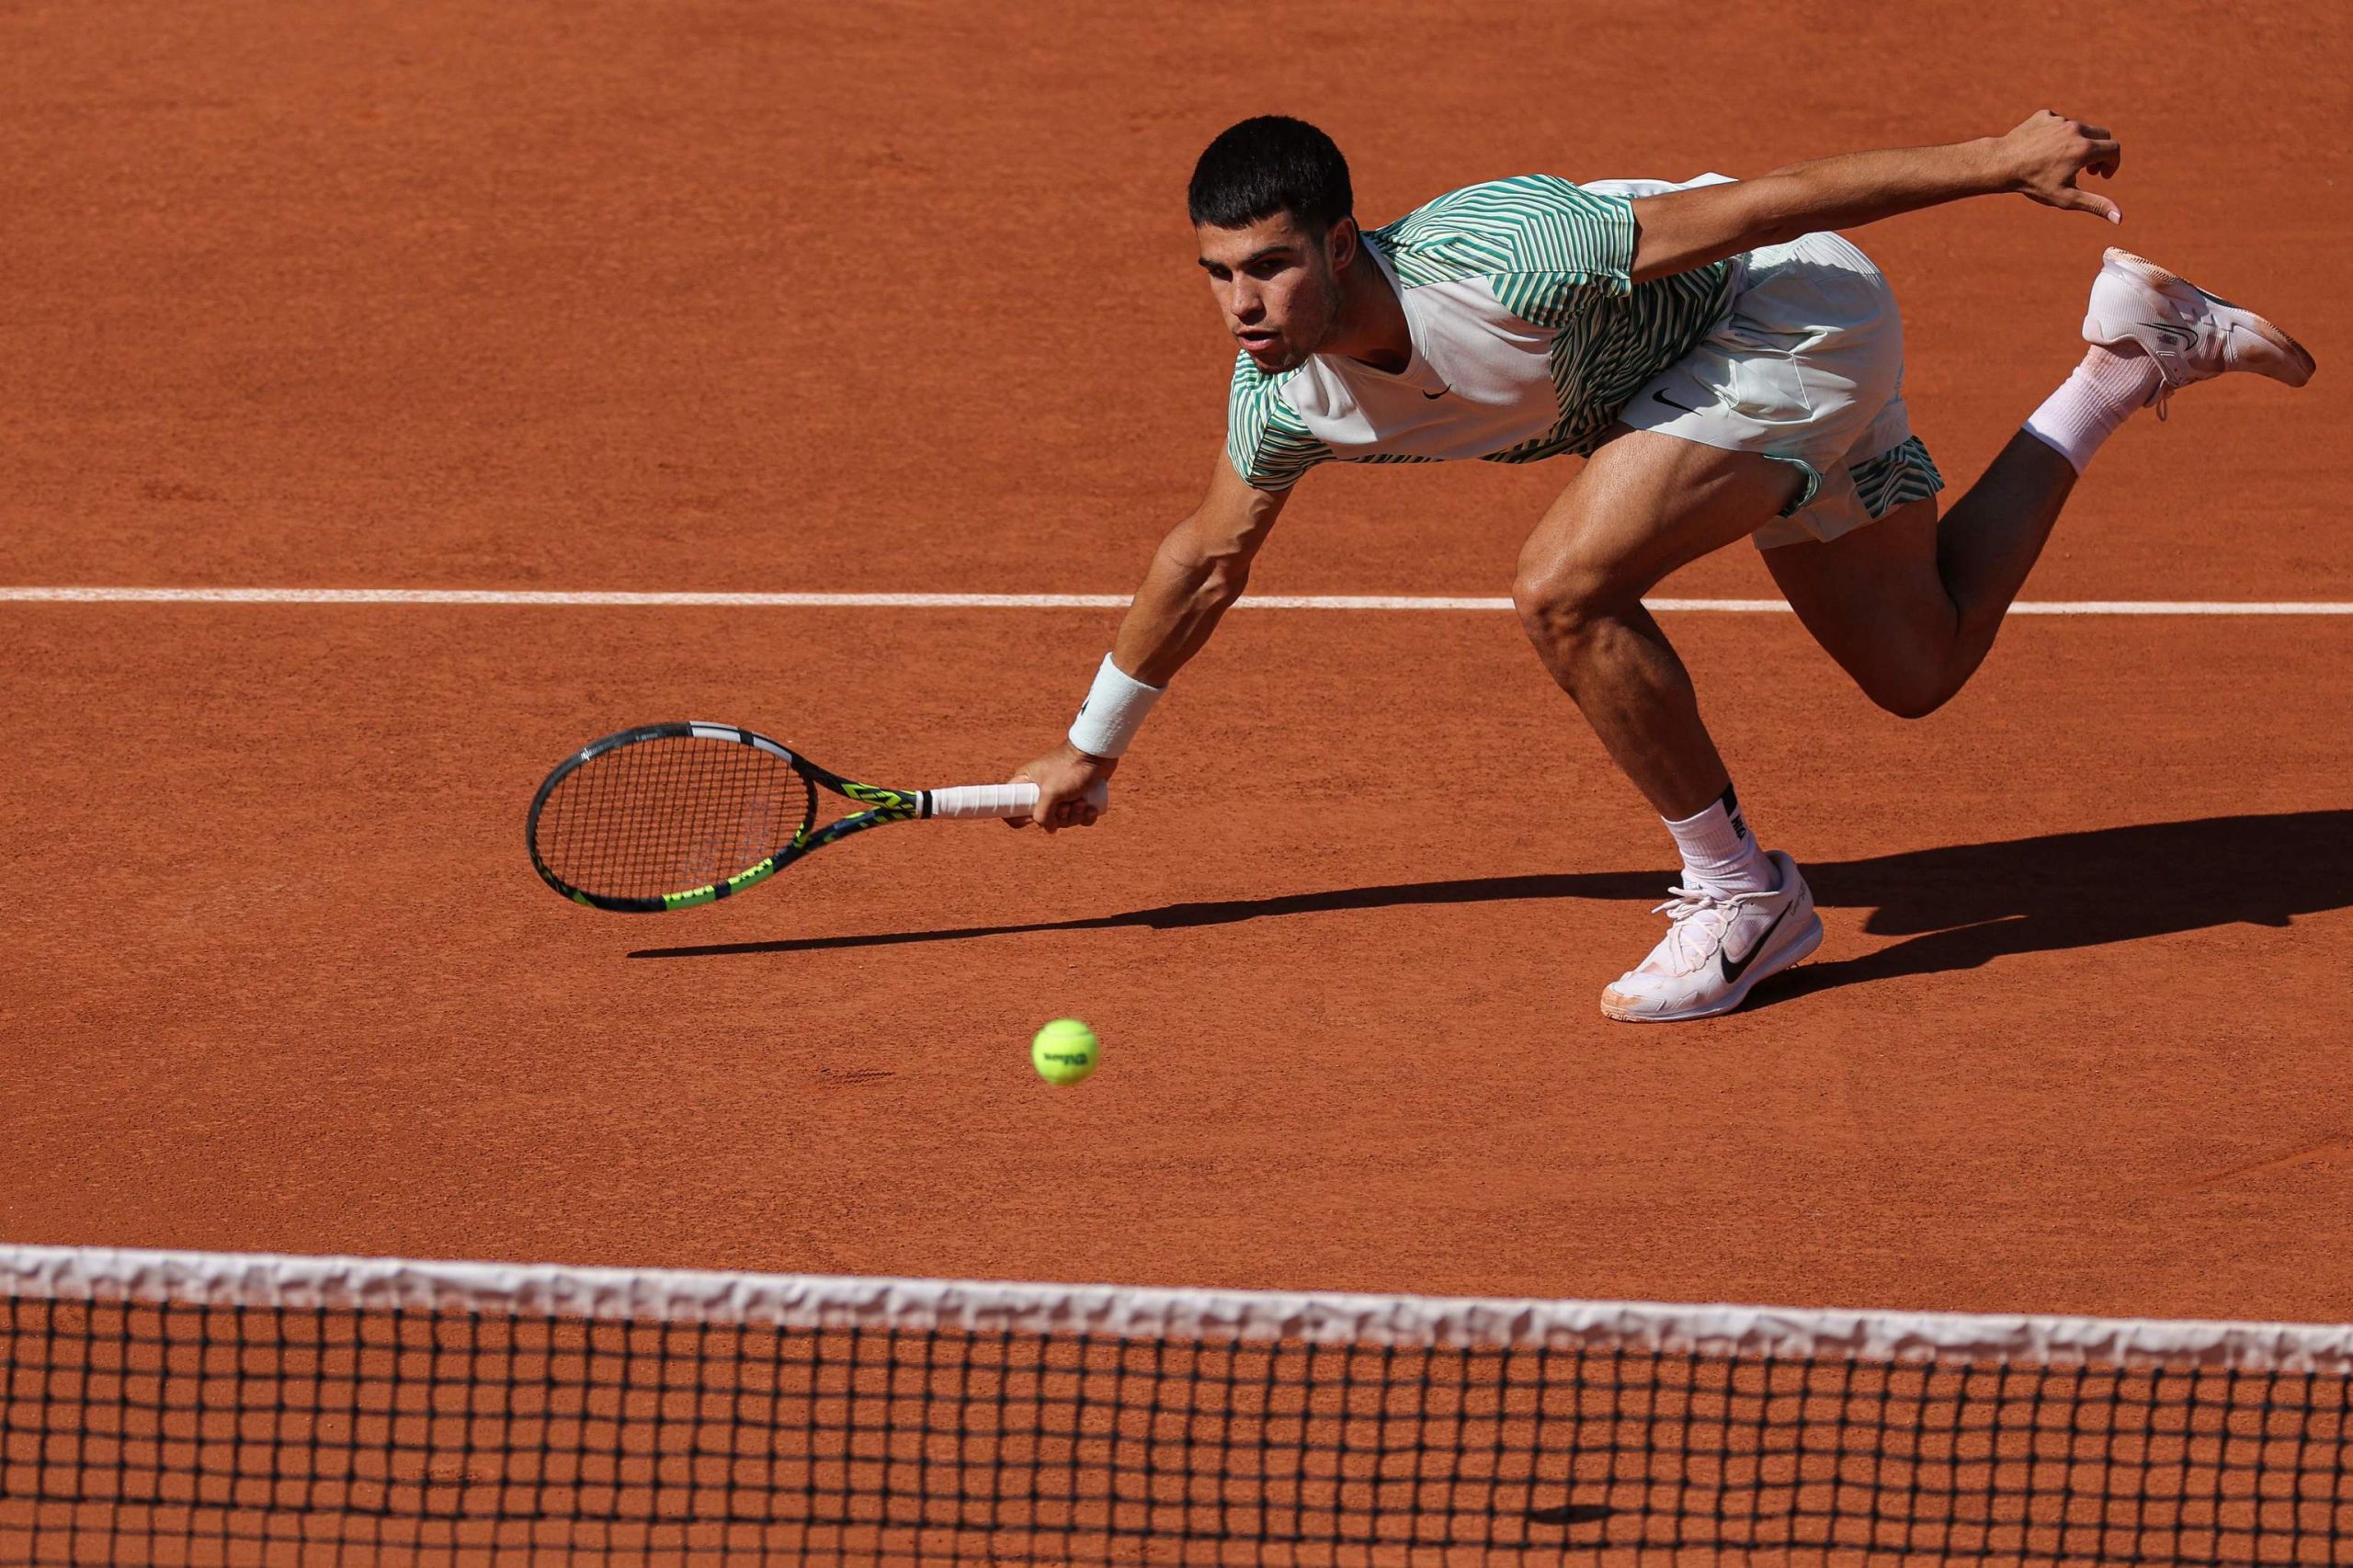
[[[294,1311],[402,1309],[889,1333],[1511,1347],[2353,1375],[2353,1326],[1292,1295],[821,1274],[0,1245],[0,1295]]]

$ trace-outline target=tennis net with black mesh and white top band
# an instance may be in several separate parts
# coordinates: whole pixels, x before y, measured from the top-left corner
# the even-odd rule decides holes
[[[2348,1563],[2353,1328],[0,1248],[5,1563]]]

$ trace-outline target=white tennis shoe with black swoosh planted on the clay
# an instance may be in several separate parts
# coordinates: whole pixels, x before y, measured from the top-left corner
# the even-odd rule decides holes
[[[1666,939],[1638,968],[1602,991],[1602,1015],[1621,1024],[1673,1024],[1715,1017],[1748,1001],[1748,989],[1821,946],[1814,890],[1781,850],[1772,892],[1701,892],[1675,888],[1654,913]]]

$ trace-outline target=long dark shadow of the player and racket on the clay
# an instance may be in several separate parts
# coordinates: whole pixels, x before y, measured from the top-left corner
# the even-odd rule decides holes
[[[1819,904],[1871,909],[1864,921],[1868,935],[1904,939],[1857,958],[1831,956],[1807,963],[1774,979],[1769,989],[1760,989],[1758,1001],[1786,1001],[1828,986],[1899,975],[1974,970],[2009,954],[2106,946],[2214,925],[2287,925],[2294,916],[2346,909],[2353,906],[2353,810],[2144,822],[2085,833],[1901,850],[1868,859],[1807,862],[1805,876],[1814,885]],[[1066,930],[1184,930],[1348,909],[1395,909],[1400,904],[1657,899],[1671,881],[1668,871],[1473,876],[1445,883],[1160,904],[1026,925],[652,946],[631,954],[631,958],[814,954],[838,946],[967,942]]]

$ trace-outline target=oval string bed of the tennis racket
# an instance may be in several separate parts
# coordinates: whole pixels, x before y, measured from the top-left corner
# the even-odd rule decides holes
[[[534,848],[569,888],[649,899],[748,871],[809,815],[809,782],[769,751],[664,735],[565,775],[539,810]]]

